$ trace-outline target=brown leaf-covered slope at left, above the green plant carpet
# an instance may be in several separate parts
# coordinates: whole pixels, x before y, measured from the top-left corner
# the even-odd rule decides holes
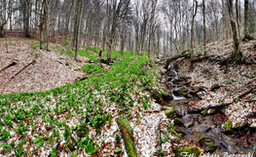
[[[61,54],[62,50],[67,49],[60,45],[51,45],[52,51],[41,50],[37,40],[10,37],[7,42],[8,53],[5,39],[0,39],[0,70],[12,63],[15,65],[0,73],[0,94],[45,91],[72,83],[84,75],[79,67],[90,60],[80,56],[82,62],[77,63],[69,56]],[[33,64],[18,74],[33,61]]]

